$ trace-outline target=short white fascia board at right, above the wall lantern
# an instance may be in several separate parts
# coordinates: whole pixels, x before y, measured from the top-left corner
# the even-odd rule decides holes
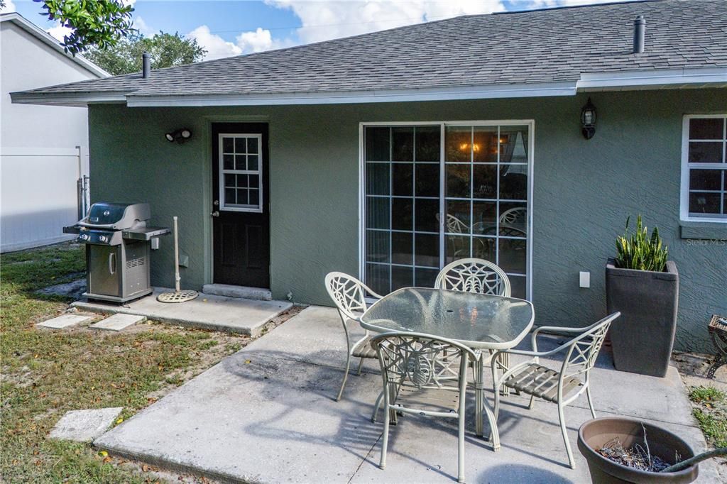
[[[579,91],[594,89],[655,89],[659,87],[727,86],[727,68],[635,70],[582,73]]]

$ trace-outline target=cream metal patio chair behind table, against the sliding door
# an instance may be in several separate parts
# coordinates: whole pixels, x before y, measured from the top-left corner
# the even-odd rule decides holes
[[[510,297],[510,279],[505,271],[485,259],[459,259],[446,265],[434,281],[437,289],[476,292]],[[501,353],[493,366],[506,371],[510,365],[507,353]],[[505,393],[508,390],[505,389]]]

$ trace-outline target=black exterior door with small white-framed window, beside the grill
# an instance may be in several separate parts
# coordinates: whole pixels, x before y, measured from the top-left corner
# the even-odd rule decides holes
[[[212,125],[214,282],[270,287],[268,124]]]

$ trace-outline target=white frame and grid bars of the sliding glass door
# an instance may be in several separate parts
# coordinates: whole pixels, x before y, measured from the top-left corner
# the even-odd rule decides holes
[[[531,216],[531,198],[532,198],[532,159],[533,159],[533,122],[532,121],[486,121],[486,122],[478,122],[478,121],[456,121],[456,122],[432,122],[432,123],[362,123],[361,124],[361,150],[360,150],[360,156],[361,156],[361,177],[360,177],[360,190],[361,190],[361,246],[360,246],[360,260],[361,260],[361,278],[366,281],[366,273],[367,273],[367,266],[388,266],[389,268],[389,286],[391,287],[393,276],[392,276],[392,270],[391,267],[410,267],[412,270],[412,275],[414,278],[414,283],[416,283],[416,270],[417,269],[429,269],[429,270],[440,270],[441,267],[445,265],[446,262],[446,241],[445,238],[447,235],[455,235],[455,236],[462,236],[462,237],[468,237],[470,238],[470,257],[473,250],[473,238],[481,238],[481,239],[490,239],[494,241],[495,244],[495,254],[496,254],[496,260],[493,261],[496,264],[499,265],[499,241],[501,239],[511,239],[511,240],[524,240],[526,242],[526,268],[525,273],[515,273],[515,272],[509,272],[506,271],[506,274],[511,278],[525,278],[526,284],[526,298],[531,298],[531,273],[532,273],[532,262],[531,262],[531,227],[532,227],[532,216]],[[414,140],[416,140],[416,131],[417,127],[423,127],[423,126],[439,126],[439,133],[440,133],[440,159],[439,161],[416,161],[417,155],[416,155],[416,142],[414,142],[413,155],[412,159],[414,161],[392,161],[393,158],[393,130],[394,127],[407,127],[407,128],[413,128],[414,131]],[[474,162],[473,161],[473,150],[470,149],[470,161],[464,161],[464,162],[450,162],[446,161],[445,156],[445,141],[446,141],[446,128],[448,127],[465,127],[470,128],[470,133],[472,137],[472,142],[474,142],[474,132],[475,129],[481,128],[481,127],[494,127],[497,128],[497,160],[496,161],[490,161],[490,162]],[[501,126],[524,126],[526,127],[526,132],[528,134],[528,147],[527,147],[527,153],[528,153],[528,161],[526,162],[502,162],[500,160],[500,154],[501,154],[501,133],[500,129]],[[389,159],[388,161],[383,160],[377,160],[377,161],[367,161],[366,160],[366,128],[374,128],[374,127],[380,127],[385,128],[388,127],[390,129],[389,131]],[[367,166],[369,164],[386,164],[389,166],[389,192],[388,195],[369,195],[367,192],[367,181],[366,181],[366,172],[367,172]],[[394,164],[411,164],[413,165],[413,171],[412,171],[412,183],[414,184],[414,187],[412,188],[412,196],[407,195],[393,195],[393,165]],[[416,166],[417,164],[437,164],[440,167],[440,196],[438,197],[426,197],[426,196],[417,196],[416,195]],[[470,197],[472,198],[457,198],[457,197],[447,197],[446,196],[446,166],[447,165],[453,165],[453,164],[463,164],[470,166]],[[499,169],[502,165],[513,165],[513,166],[524,166],[526,167],[526,173],[528,177],[528,184],[527,184],[527,199],[526,200],[520,200],[520,199],[501,199],[499,198],[499,178],[500,173]],[[496,173],[497,173],[497,195],[498,198],[473,198],[473,170],[474,166],[481,166],[481,165],[490,165],[490,166],[496,166]],[[417,198],[419,199],[431,199],[431,200],[438,200],[440,202],[439,207],[439,214],[440,214],[440,230],[438,232],[430,232],[430,231],[422,231],[422,230],[416,230],[416,222],[414,222],[413,230],[395,230],[392,228],[392,207],[393,203],[389,203],[389,228],[382,229],[382,228],[369,228],[367,227],[367,219],[366,219],[366,205],[367,200],[369,198],[387,198],[390,201],[393,198],[408,198],[412,199],[412,213],[416,213],[416,203]],[[446,216],[443,216],[443,214],[446,213],[446,201],[467,201],[470,202],[470,233],[469,234],[463,234],[463,233],[451,233],[446,231]],[[485,202],[494,202],[496,203],[496,230],[494,235],[477,235],[472,233],[472,219],[473,219],[473,206],[475,202],[478,201],[485,201]],[[506,203],[506,204],[516,204],[516,203],[524,203],[526,206],[526,213],[527,213],[527,220],[526,220],[526,237],[515,237],[511,235],[500,235],[499,230],[499,216],[500,216],[500,203]],[[369,261],[366,258],[367,255],[367,246],[366,246],[366,233],[369,231],[374,232],[383,232],[383,233],[389,233],[389,254],[388,254],[388,262],[377,262],[377,261]],[[412,237],[412,248],[411,248],[411,254],[412,254],[412,264],[399,264],[392,262],[392,252],[393,252],[393,244],[392,244],[392,233],[411,233]],[[429,235],[438,235],[439,236],[439,267],[433,267],[433,266],[426,266],[426,265],[417,265],[415,263],[416,261],[416,252],[415,252],[415,241],[416,241],[416,235],[417,234],[429,234]]]

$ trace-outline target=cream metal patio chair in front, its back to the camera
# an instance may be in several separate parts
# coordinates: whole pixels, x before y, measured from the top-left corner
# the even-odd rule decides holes
[[[451,339],[421,333],[385,333],[371,339],[384,388],[384,436],[379,467],[386,466],[389,424],[396,413],[457,419],[457,480],[465,482],[467,366],[477,358]]]

